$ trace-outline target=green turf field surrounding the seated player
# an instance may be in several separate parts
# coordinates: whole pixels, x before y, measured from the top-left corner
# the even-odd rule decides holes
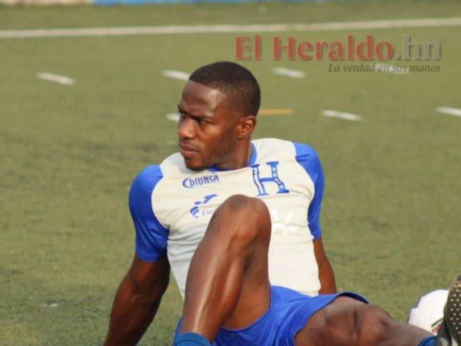
[[[273,24],[461,16],[461,2],[0,7],[0,30],[186,24]],[[259,8],[259,10],[258,10]],[[264,13],[261,13],[264,12]],[[403,34],[436,40],[434,73],[329,73],[329,60],[244,62],[263,108],[255,138],[308,143],[322,158],[323,239],[338,288],[355,290],[404,321],[415,300],[461,270],[461,27],[284,32],[299,40]],[[191,72],[234,59],[236,33],[0,39],[0,344],[101,344],[134,232],[131,180],[176,151],[175,112]],[[267,47],[267,48],[266,48]],[[391,60],[389,64],[398,64]],[[339,65],[357,64],[342,62]],[[293,79],[274,67],[306,73]],[[35,77],[75,78],[63,86]],[[347,121],[333,109],[361,115]],[[57,304],[57,306],[56,306]],[[168,345],[182,303],[172,281],[141,341]]]

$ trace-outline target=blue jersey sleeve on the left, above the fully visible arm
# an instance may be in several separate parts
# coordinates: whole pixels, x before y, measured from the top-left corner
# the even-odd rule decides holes
[[[168,229],[158,222],[152,208],[152,192],[163,178],[158,166],[145,168],[134,179],[129,206],[136,231],[136,255],[145,262],[155,262],[167,251]]]

